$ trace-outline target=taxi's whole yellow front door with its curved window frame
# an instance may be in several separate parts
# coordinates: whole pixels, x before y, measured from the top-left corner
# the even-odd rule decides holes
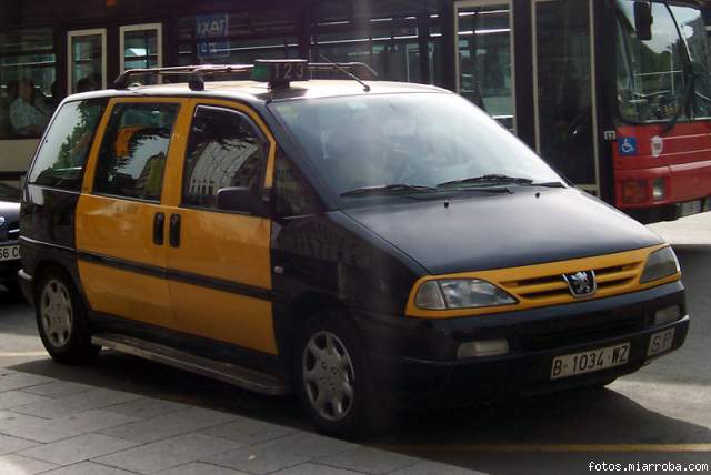
[[[230,113],[239,112],[248,118],[247,121],[251,121],[252,128],[259,129],[267,145],[261,156],[266,168],[263,186],[269,189],[276,141],[259,115],[249,107],[234,101],[193,99],[190,108],[192,120],[204,119],[197,119],[197,108],[202,105],[219,108],[220,113],[227,115],[218,115],[227,120],[237,120]],[[214,115],[211,120],[218,124],[230,123],[218,120]],[[211,128],[209,123],[210,121],[201,129],[207,132],[201,133],[217,134],[221,133],[217,130],[224,129]],[[229,131],[238,129],[228,128]],[[186,130],[189,142],[190,127]],[[231,133],[229,131],[224,133]],[[179,214],[181,219],[180,245],[171,247],[168,256],[171,273],[170,295],[176,323],[186,333],[277,354],[272,306],[269,300],[271,222],[264,218],[218,211],[211,208],[214,206],[214,202],[184,204],[183,182],[189,178],[182,176],[182,173],[189,170],[193,170],[194,173],[200,163],[204,173],[199,180],[203,189],[200,193],[214,198],[217,190],[212,189],[212,183],[223,183],[224,175],[237,173],[243,163],[240,162],[239,153],[229,154],[228,149],[233,143],[231,140],[210,142],[212,139],[202,135],[201,140],[203,145],[197,149],[200,150],[200,155],[193,159],[192,168],[188,166],[188,163],[177,168],[180,173],[173,175],[173,193],[166,195],[168,201],[164,202],[171,206],[170,214]],[[183,161],[187,161],[188,153],[191,151],[187,150],[187,153],[183,153]],[[201,160],[203,162],[200,162]],[[208,169],[210,172],[204,172]],[[204,191],[207,189],[211,191]],[[203,281],[202,284],[191,282],[191,276],[198,276]],[[206,279],[208,282],[204,282]],[[216,283],[219,284],[219,290],[210,286]]]

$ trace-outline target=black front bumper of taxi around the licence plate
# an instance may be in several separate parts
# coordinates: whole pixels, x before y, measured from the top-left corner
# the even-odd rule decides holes
[[[527,312],[421,322],[417,329],[400,329],[400,338],[390,338],[391,342],[402,337],[419,340],[411,345],[400,345],[400,354],[387,354],[384,347],[375,343],[371,348],[371,368],[379,387],[388,387],[398,400],[417,404],[432,400],[438,405],[459,405],[473,398],[535,394],[608,382],[633,373],[650,360],[683,344],[689,316],[667,325],[654,325],[653,317],[657,310],[669,305],[679,305],[681,315],[685,315],[684,301],[683,285],[674,282],[633,294]],[[675,331],[671,347],[648,357],[650,337],[672,327]],[[361,329],[369,338],[372,322]],[[463,342],[501,337],[508,338],[511,347],[505,356],[455,357],[455,348]],[[631,345],[624,365],[551,381],[555,357],[622,343]]]

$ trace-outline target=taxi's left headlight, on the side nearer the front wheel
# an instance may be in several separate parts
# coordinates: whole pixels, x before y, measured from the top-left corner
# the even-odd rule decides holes
[[[511,305],[517,300],[507,292],[479,279],[429,281],[420,286],[414,304],[424,310],[479,309]]]

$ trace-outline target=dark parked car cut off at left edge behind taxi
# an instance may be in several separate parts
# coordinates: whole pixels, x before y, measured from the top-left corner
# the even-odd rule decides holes
[[[18,294],[20,189],[0,183],[0,285]]]

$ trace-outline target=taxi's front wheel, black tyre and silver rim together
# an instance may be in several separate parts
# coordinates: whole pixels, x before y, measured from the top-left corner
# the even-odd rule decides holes
[[[316,428],[358,439],[384,422],[352,324],[338,311],[314,315],[294,356],[299,400]]]

